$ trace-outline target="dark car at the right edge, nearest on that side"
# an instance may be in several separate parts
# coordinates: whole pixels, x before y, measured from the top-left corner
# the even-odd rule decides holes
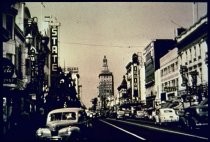
[[[195,105],[184,109],[179,122],[181,127],[189,129],[208,126],[208,105]]]

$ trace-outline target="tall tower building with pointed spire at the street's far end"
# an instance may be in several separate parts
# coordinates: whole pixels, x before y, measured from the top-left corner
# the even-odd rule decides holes
[[[108,98],[114,95],[114,77],[109,71],[106,56],[103,59],[102,71],[99,74],[99,98],[101,108],[107,109]]]

